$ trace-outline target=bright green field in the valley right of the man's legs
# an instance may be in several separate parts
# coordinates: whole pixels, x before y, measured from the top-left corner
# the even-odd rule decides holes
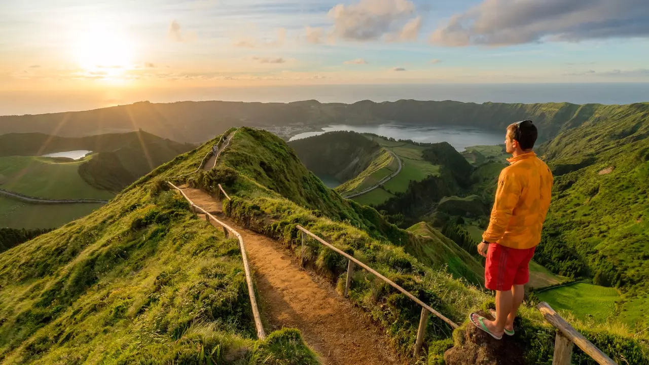
[[[574,317],[589,321],[605,322],[607,318],[615,315],[615,302],[620,299],[620,294],[615,288],[606,288],[586,283],[576,283],[560,286],[537,293],[541,301],[546,301],[552,308],[566,312]]]

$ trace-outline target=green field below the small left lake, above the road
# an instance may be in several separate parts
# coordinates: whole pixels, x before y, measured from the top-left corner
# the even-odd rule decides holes
[[[59,162],[45,157],[0,157],[0,188],[49,199],[111,199],[114,194],[94,188],[80,177],[78,170],[83,162]]]

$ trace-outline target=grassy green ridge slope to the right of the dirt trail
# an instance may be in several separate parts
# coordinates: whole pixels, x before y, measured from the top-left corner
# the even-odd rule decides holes
[[[212,192],[217,184],[223,184],[232,197],[224,207],[231,219],[275,238],[296,256],[300,253],[300,241],[295,225],[299,224],[382,272],[452,320],[463,322],[471,310],[485,308],[493,300],[467,283],[471,275],[477,274],[477,262],[448,238],[425,223],[412,227],[413,232],[397,229],[373,208],[339,199],[273,134],[238,129],[232,146],[221,157],[222,166],[190,177],[188,182]],[[307,266],[337,283],[339,289],[345,283],[347,262],[336,253],[307,242],[305,258]],[[458,277],[447,270],[464,270],[461,276],[469,277]],[[350,300],[384,327],[398,351],[410,353],[421,308],[358,270],[352,278]],[[427,356],[431,363],[436,363],[441,352],[453,346],[452,334],[437,318],[430,321]],[[608,325],[574,323],[615,359],[623,356],[630,363],[649,360],[643,354],[643,345],[624,331],[613,333]],[[517,326],[524,363],[550,362],[555,331],[539,312],[524,306]],[[456,345],[461,346],[457,342]],[[593,363],[581,353],[573,359]]]

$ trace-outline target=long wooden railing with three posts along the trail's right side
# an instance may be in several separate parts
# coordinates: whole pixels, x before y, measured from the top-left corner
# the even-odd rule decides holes
[[[344,257],[347,258],[348,264],[347,264],[347,283],[345,283],[345,293],[344,293],[345,297],[347,297],[347,293],[349,292],[349,287],[350,287],[350,285],[352,283],[352,274],[354,273],[354,265],[358,265],[361,268],[369,271],[373,275],[376,275],[376,277],[379,277],[380,279],[385,281],[387,284],[389,284],[393,288],[397,289],[399,292],[402,292],[407,297],[409,297],[410,299],[415,301],[415,303],[421,305],[421,316],[419,317],[419,329],[417,330],[417,342],[415,342],[415,351],[414,351],[415,359],[417,357],[419,357],[419,351],[421,351],[421,346],[422,346],[422,344],[424,342],[424,334],[426,333],[426,325],[428,324],[428,314],[430,314],[430,313],[434,314],[435,316],[437,316],[437,318],[439,318],[439,319],[445,321],[446,323],[448,323],[448,325],[450,325],[450,327],[452,327],[453,329],[456,329],[456,328],[459,327],[457,323],[455,323],[452,320],[449,320],[446,316],[444,316],[440,312],[437,312],[437,310],[434,310],[429,305],[422,302],[417,297],[413,296],[410,292],[408,292],[408,290],[402,288],[401,286],[398,286],[397,284],[395,284],[390,279],[387,279],[387,277],[384,277],[380,273],[376,272],[376,270],[373,270],[373,268],[370,268],[369,266],[363,264],[363,262],[360,262],[359,260],[356,260],[356,258],[352,257],[348,253],[345,253],[344,251],[341,251],[340,249],[337,249],[336,247],[329,244],[328,242],[326,242],[322,238],[316,236],[315,234],[311,233],[308,229],[305,229],[301,225],[298,225],[296,228],[299,229],[300,231],[302,231],[302,247],[301,247],[301,253],[300,253],[300,255],[301,255],[300,260],[302,262],[302,266],[304,266],[304,242],[306,242],[306,236],[312,236],[313,238],[315,238],[315,240],[317,242],[320,242],[321,244],[325,245],[326,247],[329,247],[330,249],[336,251],[340,255],[343,255]]]

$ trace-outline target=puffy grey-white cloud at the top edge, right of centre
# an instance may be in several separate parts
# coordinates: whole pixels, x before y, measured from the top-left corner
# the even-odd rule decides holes
[[[415,5],[410,0],[360,0],[338,4],[328,12],[334,21],[332,36],[351,41],[416,38],[421,18],[410,19]],[[397,34],[395,36],[395,34]]]

